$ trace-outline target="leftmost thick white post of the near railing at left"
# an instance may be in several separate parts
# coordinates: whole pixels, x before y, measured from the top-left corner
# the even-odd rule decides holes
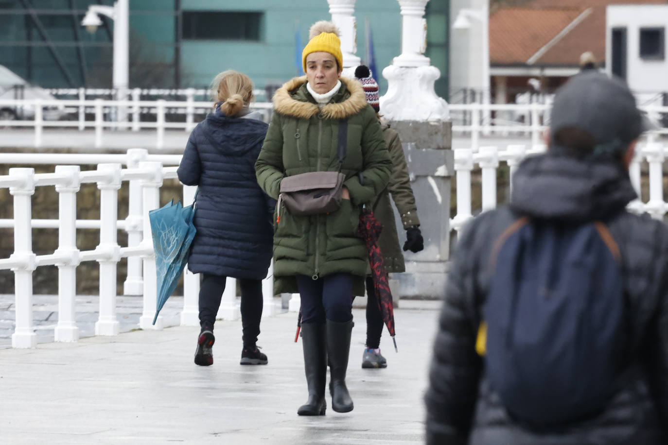
[[[14,253],[9,258],[21,262],[12,268],[14,272],[14,298],[16,326],[11,335],[13,348],[35,348],[37,334],[33,330],[33,270],[37,258],[33,254],[32,199],[35,193],[35,169],[10,168],[9,175],[21,181],[21,185],[9,187],[14,197]]]

